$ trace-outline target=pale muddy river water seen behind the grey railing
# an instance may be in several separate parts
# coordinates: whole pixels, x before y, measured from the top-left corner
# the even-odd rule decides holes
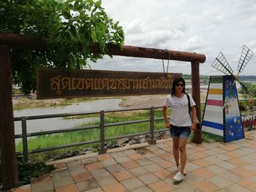
[[[31,115],[51,115],[63,114],[70,112],[99,112],[100,110],[117,110],[121,107],[121,99],[99,99],[96,101],[87,101],[85,103],[75,103],[67,106],[59,107],[37,107],[33,109],[15,110],[15,117],[31,116]],[[38,131],[51,131],[64,128],[78,127],[82,123],[98,121],[99,118],[83,118],[83,119],[64,119],[64,118],[48,118],[39,120],[27,120],[27,132],[33,133]],[[21,121],[15,121],[15,134],[21,134]]]

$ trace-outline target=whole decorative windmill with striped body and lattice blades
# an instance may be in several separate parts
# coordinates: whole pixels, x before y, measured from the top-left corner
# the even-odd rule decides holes
[[[236,81],[247,90],[246,85],[238,79],[238,76],[243,72],[252,55],[252,51],[244,45],[238,63],[237,75],[233,74],[233,70],[222,52],[211,65],[225,75],[210,77],[202,130],[214,137],[222,138],[224,142],[244,138]]]

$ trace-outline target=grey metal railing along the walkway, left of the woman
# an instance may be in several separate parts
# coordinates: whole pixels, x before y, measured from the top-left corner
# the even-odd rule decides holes
[[[99,150],[98,153],[106,153],[107,149],[105,148],[105,142],[115,139],[121,139],[121,138],[128,138],[128,137],[136,137],[141,135],[149,134],[149,141],[150,143],[155,143],[154,139],[154,133],[157,132],[163,132],[167,131],[166,128],[154,130],[154,122],[157,120],[163,120],[164,118],[154,118],[154,111],[155,109],[159,109],[162,107],[146,107],[146,108],[135,108],[135,109],[125,109],[125,110],[101,110],[99,112],[72,112],[72,113],[64,113],[64,114],[54,114],[54,115],[36,115],[36,116],[26,116],[26,117],[18,117],[14,118],[15,121],[21,121],[21,127],[22,127],[22,134],[15,134],[15,139],[22,139],[23,142],[23,152],[18,152],[16,155],[23,155],[23,161],[28,162],[29,161],[29,154],[31,153],[40,153],[45,152],[49,150],[58,150],[65,147],[75,147],[78,145],[87,145],[87,144],[93,144],[93,143],[99,143]],[[105,114],[111,113],[111,112],[127,112],[127,111],[136,111],[136,110],[149,110],[149,118],[143,119],[143,120],[129,120],[129,121],[123,121],[118,123],[105,123]],[[78,115],[97,115],[99,114],[99,124],[94,126],[81,126],[81,127],[75,127],[75,128],[65,128],[65,129],[59,129],[59,130],[53,130],[53,131],[39,131],[34,133],[27,133],[27,120],[38,120],[38,119],[45,119],[45,118],[65,118],[65,117],[71,117],[71,116],[78,116]],[[127,135],[120,135],[117,137],[109,137],[105,138],[105,128],[110,126],[121,126],[121,125],[128,125],[133,123],[146,123],[149,122],[149,128],[146,132],[140,132],[137,134],[127,134]],[[59,145],[54,147],[46,147],[46,148],[39,148],[34,150],[29,150],[28,147],[28,137],[36,137],[41,135],[47,135],[47,134],[60,134],[64,132],[69,131],[82,131],[82,130],[89,130],[93,128],[99,128],[99,139],[97,140],[91,140],[91,141],[84,141],[84,142],[75,142],[71,144],[66,145]]]

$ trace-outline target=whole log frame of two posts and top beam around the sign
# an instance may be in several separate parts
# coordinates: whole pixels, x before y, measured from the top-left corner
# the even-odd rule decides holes
[[[18,166],[15,158],[15,129],[12,108],[12,62],[10,51],[12,48],[36,50],[44,48],[43,37],[31,39],[20,34],[0,34],[0,150],[1,167],[3,172],[4,189],[18,185]],[[78,45],[79,46],[79,45]],[[206,61],[206,55],[181,52],[175,50],[160,50],[146,47],[122,45],[107,45],[106,55],[121,55],[127,57],[170,59],[187,61],[192,69],[192,96],[197,105],[197,118],[200,120],[200,79],[199,64]],[[91,53],[101,53],[99,46],[91,47]],[[195,132],[194,142],[201,142],[201,131]]]

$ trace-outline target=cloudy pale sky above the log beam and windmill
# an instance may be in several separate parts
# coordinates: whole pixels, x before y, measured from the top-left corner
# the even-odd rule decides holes
[[[102,0],[102,7],[124,28],[124,45],[204,54],[202,75],[222,74],[211,66],[220,51],[237,74],[246,45],[255,55],[241,75],[256,75],[256,0]],[[108,55],[91,68],[163,72],[160,59]],[[168,72],[191,74],[191,64],[169,61]]]

